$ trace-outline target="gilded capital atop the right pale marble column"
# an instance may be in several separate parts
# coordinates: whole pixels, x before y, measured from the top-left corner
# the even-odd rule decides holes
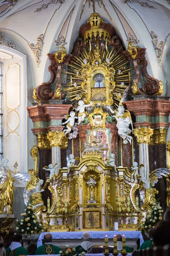
[[[150,136],[153,134],[153,129],[150,127],[139,127],[133,129],[133,134],[137,138],[137,142],[140,143],[150,143]]]

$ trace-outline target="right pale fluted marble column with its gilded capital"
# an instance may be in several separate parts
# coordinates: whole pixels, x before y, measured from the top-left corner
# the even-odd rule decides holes
[[[133,134],[136,136],[137,142],[139,143],[139,164],[144,164],[144,167],[140,168],[139,174],[149,181],[148,143],[150,143],[150,136],[153,134],[153,129],[150,127],[139,127],[137,129],[133,129]]]

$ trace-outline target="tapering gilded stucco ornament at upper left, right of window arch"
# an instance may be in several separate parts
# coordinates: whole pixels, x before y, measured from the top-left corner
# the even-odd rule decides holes
[[[34,53],[36,63],[37,63],[37,67],[39,67],[39,64],[40,64],[40,56],[41,56],[41,51],[42,51],[42,46],[43,46],[43,38],[44,38],[44,35],[41,34],[37,38],[37,44],[31,43],[29,45],[31,47],[31,50]]]

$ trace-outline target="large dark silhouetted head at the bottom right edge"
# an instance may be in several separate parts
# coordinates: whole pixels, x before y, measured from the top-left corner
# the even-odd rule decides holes
[[[154,246],[170,244],[170,221],[160,221],[153,229]]]

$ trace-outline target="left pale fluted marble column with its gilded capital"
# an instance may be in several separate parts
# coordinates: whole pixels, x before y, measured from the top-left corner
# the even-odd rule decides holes
[[[51,145],[52,164],[59,164],[58,168],[55,169],[57,172],[57,170],[61,168],[61,148],[68,147],[68,138],[65,137],[64,132],[57,130],[49,131],[47,134],[47,139],[50,141]]]

